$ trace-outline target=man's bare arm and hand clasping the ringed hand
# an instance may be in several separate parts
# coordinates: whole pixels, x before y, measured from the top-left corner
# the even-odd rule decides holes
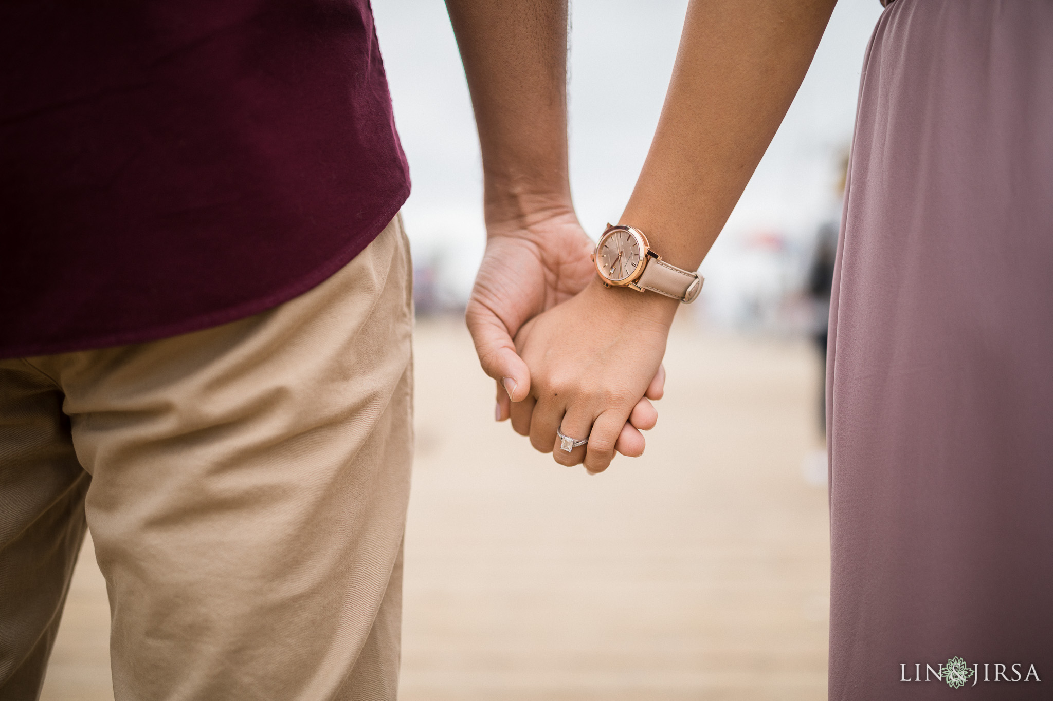
[[[446,7],[482,151],[486,254],[468,325],[483,369],[498,383],[502,420],[510,397],[522,399],[530,389],[513,336],[595,274],[567,166],[567,0],[446,0]],[[642,452],[636,429],[627,426],[625,434],[619,450]]]

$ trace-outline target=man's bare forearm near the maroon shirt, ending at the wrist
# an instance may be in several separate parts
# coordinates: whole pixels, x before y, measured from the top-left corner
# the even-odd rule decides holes
[[[488,222],[570,208],[567,0],[446,0],[482,148]]]

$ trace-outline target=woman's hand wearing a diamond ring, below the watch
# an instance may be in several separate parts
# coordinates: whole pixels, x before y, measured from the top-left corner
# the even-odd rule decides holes
[[[637,428],[654,426],[656,414],[644,394],[660,385],[676,308],[675,300],[608,289],[596,281],[523,325],[516,349],[530,368],[531,387],[512,405],[516,432],[529,435],[537,450],[554,451],[561,465],[605,470],[622,434],[632,431],[631,416]],[[557,429],[588,437],[589,444],[568,453],[559,448]],[[621,452],[641,453],[642,436],[639,440],[639,452]]]

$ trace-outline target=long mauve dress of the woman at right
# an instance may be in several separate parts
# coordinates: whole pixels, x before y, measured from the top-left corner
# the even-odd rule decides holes
[[[829,357],[830,698],[1053,699],[1053,0],[886,8]]]

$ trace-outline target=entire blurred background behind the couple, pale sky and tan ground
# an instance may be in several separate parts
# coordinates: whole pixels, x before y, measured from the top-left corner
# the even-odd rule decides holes
[[[594,238],[647,156],[686,0],[575,0],[571,178]],[[877,0],[842,0],[670,338],[647,454],[568,470],[493,421],[461,313],[485,241],[438,0],[375,0],[413,195],[417,460],[401,697],[824,699],[820,421],[832,243]],[[112,699],[105,583],[78,564],[45,700]]]

